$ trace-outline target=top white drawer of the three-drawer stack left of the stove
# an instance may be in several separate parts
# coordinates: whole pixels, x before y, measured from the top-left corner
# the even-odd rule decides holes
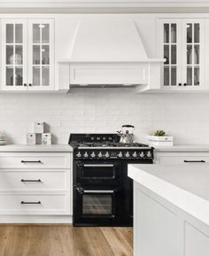
[[[69,168],[70,154],[16,152],[0,153],[0,168]]]

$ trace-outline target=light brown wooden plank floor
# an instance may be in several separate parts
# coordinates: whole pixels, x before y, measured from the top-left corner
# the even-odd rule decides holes
[[[132,228],[2,225],[0,256],[132,256]]]

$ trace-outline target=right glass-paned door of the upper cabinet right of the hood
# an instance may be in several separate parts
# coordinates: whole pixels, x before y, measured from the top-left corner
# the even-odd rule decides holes
[[[187,88],[203,87],[204,81],[204,24],[199,19],[182,21],[182,81]]]

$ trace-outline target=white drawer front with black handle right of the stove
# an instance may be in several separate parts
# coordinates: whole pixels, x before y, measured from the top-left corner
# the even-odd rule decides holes
[[[159,156],[159,164],[204,164],[209,163],[209,156]]]

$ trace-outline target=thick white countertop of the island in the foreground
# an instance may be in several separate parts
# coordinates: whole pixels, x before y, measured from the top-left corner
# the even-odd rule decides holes
[[[128,165],[128,176],[209,225],[209,164]]]

